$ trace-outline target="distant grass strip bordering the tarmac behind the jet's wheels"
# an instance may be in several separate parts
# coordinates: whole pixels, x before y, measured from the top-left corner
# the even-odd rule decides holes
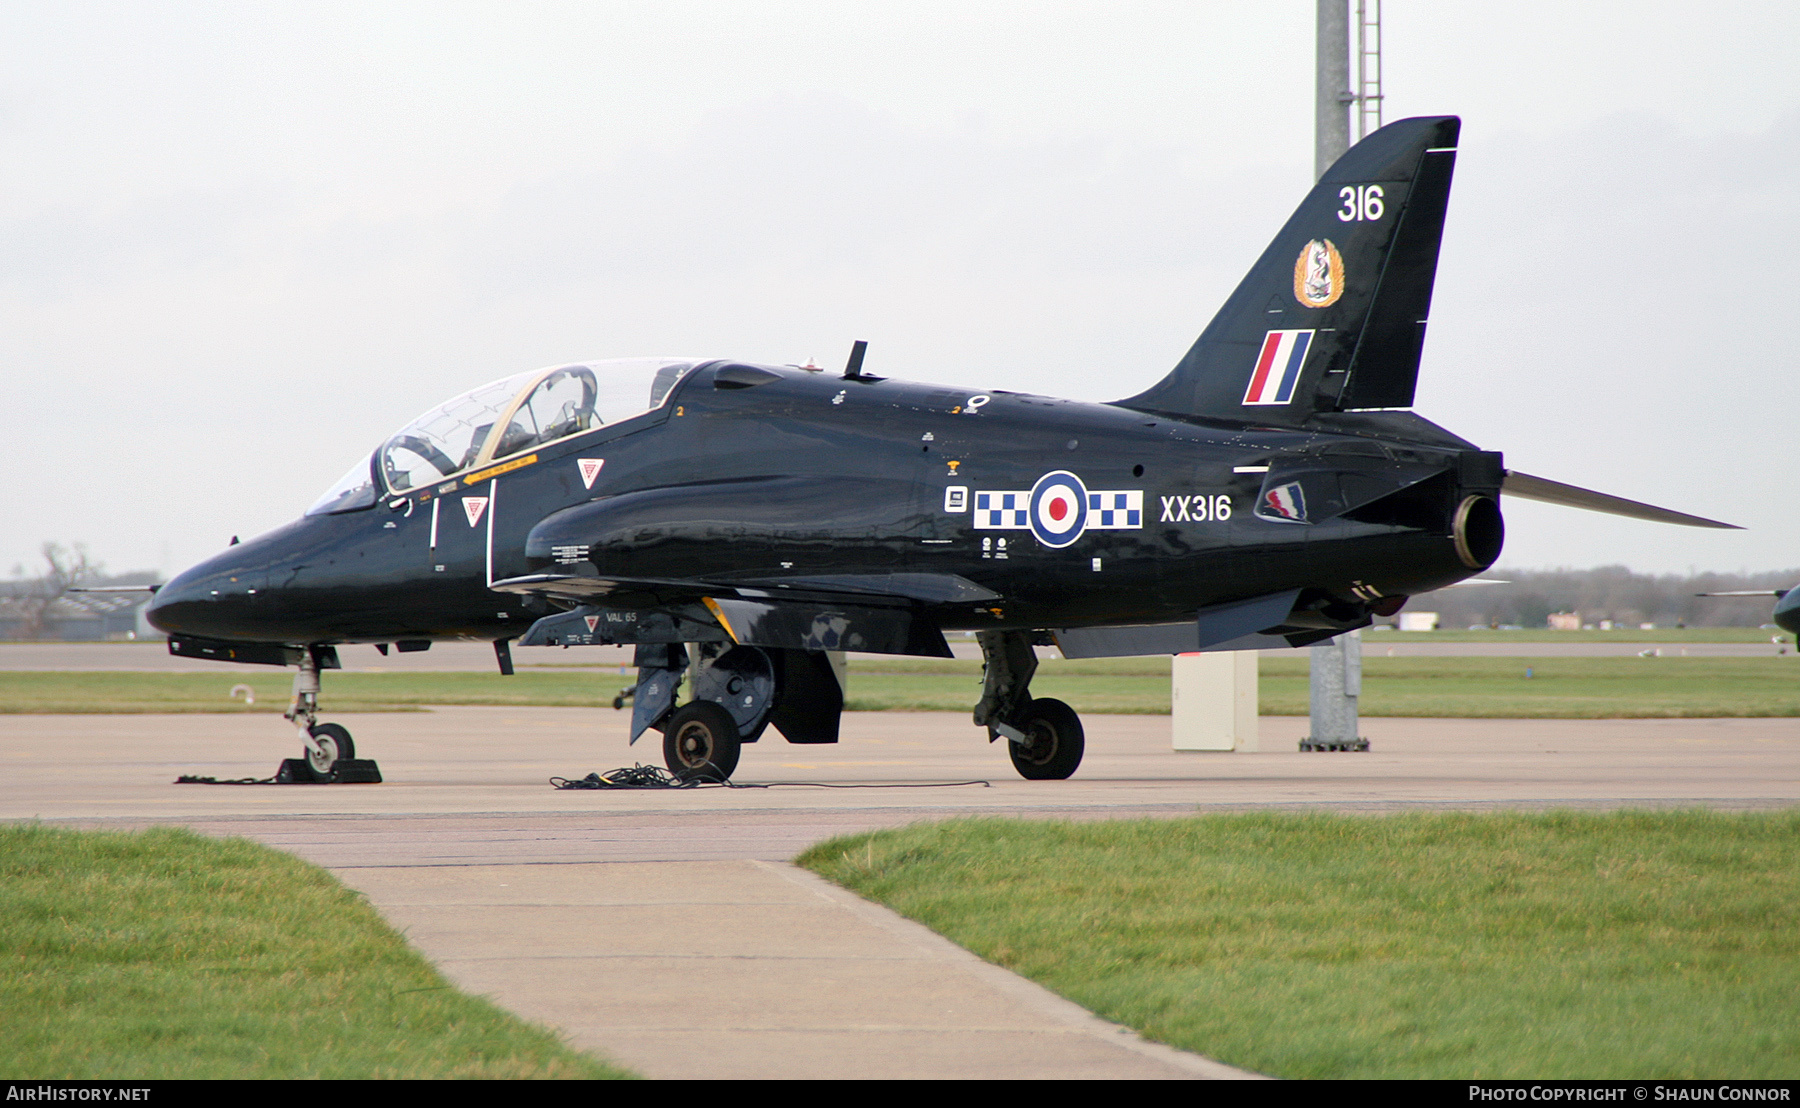
[[[1526,669],[1532,676],[1526,678]],[[1168,658],[1046,660],[1031,691],[1082,712],[1168,712]],[[1800,716],[1800,658],[1384,658],[1363,660],[1364,716],[1717,718]],[[608,707],[632,678],[617,673],[328,673],[333,712],[423,705]],[[248,684],[256,705],[230,698]],[[967,712],[981,698],[974,658],[857,660],[848,707],[859,712]],[[0,712],[279,712],[288,675],[0,673]],[[1262,660],[1262,714],[1307,714],[1307,658]]]

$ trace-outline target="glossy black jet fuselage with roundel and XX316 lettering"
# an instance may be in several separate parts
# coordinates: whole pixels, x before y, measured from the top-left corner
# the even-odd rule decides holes
[[[149,619],[243,642],[513,639],[544,603],[490,585],[585,561],[684,581],[938,574],[1001,597],[934,606],[941,630],[1141,624],[1289,588],[1404,597],[1499,552],[1498,531],[1458,532],[1498,495],[1498,455],[727,365],[650,412],[234,545]],[[1359,466],[1429,477],[1334,514]],[[1271,468],[1310,507],[1269,489]]]

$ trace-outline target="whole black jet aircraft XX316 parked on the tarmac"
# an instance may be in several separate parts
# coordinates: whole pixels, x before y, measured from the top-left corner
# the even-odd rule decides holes
[[[774,727],[835,743],[839,651],[949,657],[1024,777],[1082,759],[1066,657],[1307,646],[1499,556],[1499,495],[1726,527],[1521,473],[1408,412],[1456,160],[1408,119],[1312,189],[1175,369],[1112,403],[716,360],[592,362],[484,385],[360,459],[293,523],[164,586],[176,655],[297,666],[335,644],[634,644],[630,734],[729,777]],[[677,705],[677,687],[691,696]]]

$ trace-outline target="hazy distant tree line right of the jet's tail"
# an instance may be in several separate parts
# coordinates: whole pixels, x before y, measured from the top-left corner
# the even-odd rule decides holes
[[[1699,592],[1793,588],[1800,568],[1766,574],[1634,574],[1622,565],[1591,570],[1492,568],[1481,577],[1507,585],[1440,588],[1408,601],[1408,612],[1436,612],[1445,630],[1469,626],[1543,628],[1552,612],[1577,612],[1584,624],[1609,619],[1636,628],[1757,628],[1769,622],[1775,597],[1699,597]]]

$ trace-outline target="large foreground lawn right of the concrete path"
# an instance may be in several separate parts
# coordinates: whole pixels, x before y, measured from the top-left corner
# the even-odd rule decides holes
[[[1282,1077],[1800,1074],[1800,813],[958,820],[799,858]]]

